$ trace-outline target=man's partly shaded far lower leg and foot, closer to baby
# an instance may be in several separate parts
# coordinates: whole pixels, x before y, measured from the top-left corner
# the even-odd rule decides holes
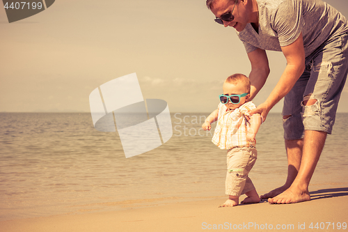
[[[285,139],[285,149],[287,153],[287,179],[283,186],[261,195],[261,199],[268,199],[277,196],[287,190],[294,182],[300,169],[302,157],[303,139],[287,140]]]

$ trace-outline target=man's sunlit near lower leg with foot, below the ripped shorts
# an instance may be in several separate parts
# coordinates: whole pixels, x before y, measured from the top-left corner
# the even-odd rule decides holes
[[[282,194],[269,199],[269,203],[298,203],[309,201],[308,185],[324,148],[326,132],[306,130],[299,173],[292,185]]]

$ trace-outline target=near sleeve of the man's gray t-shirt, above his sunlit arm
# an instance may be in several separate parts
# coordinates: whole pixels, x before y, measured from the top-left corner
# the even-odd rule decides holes
[[[299,0],[283,1],[274,14],[274,31],[278,34],[280,47],[295,42],[303,29],[303,6]]]

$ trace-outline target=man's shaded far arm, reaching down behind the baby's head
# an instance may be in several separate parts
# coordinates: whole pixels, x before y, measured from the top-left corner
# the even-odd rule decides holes
[[[253,52],[249,52],[248,59],[251,63],[251,72],[249,74],[251,90],[249,100],[253,100],[266,82],[269,75],[269,63],[266,51],[260,48]]]

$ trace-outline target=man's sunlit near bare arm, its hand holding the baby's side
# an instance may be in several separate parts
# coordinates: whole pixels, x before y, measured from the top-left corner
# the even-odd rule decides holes
[[[267,117],[272,107],[290,92],[296,81],[301,77],[305,68],[305,52],[302,33],[291,45],[281,47],[281,49],[287,60],[283,75],[281,75],[278,84],[276,84],[276,87],[271,91],[267,100],[251,111],[251,114],[261,114],[264,119]]]

